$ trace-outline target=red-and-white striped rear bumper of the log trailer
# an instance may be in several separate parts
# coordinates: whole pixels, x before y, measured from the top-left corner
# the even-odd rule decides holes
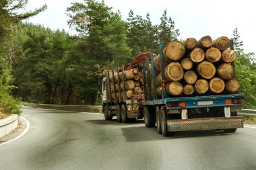
[[[243,117],[167,120],[168,132],[243,128]]]

